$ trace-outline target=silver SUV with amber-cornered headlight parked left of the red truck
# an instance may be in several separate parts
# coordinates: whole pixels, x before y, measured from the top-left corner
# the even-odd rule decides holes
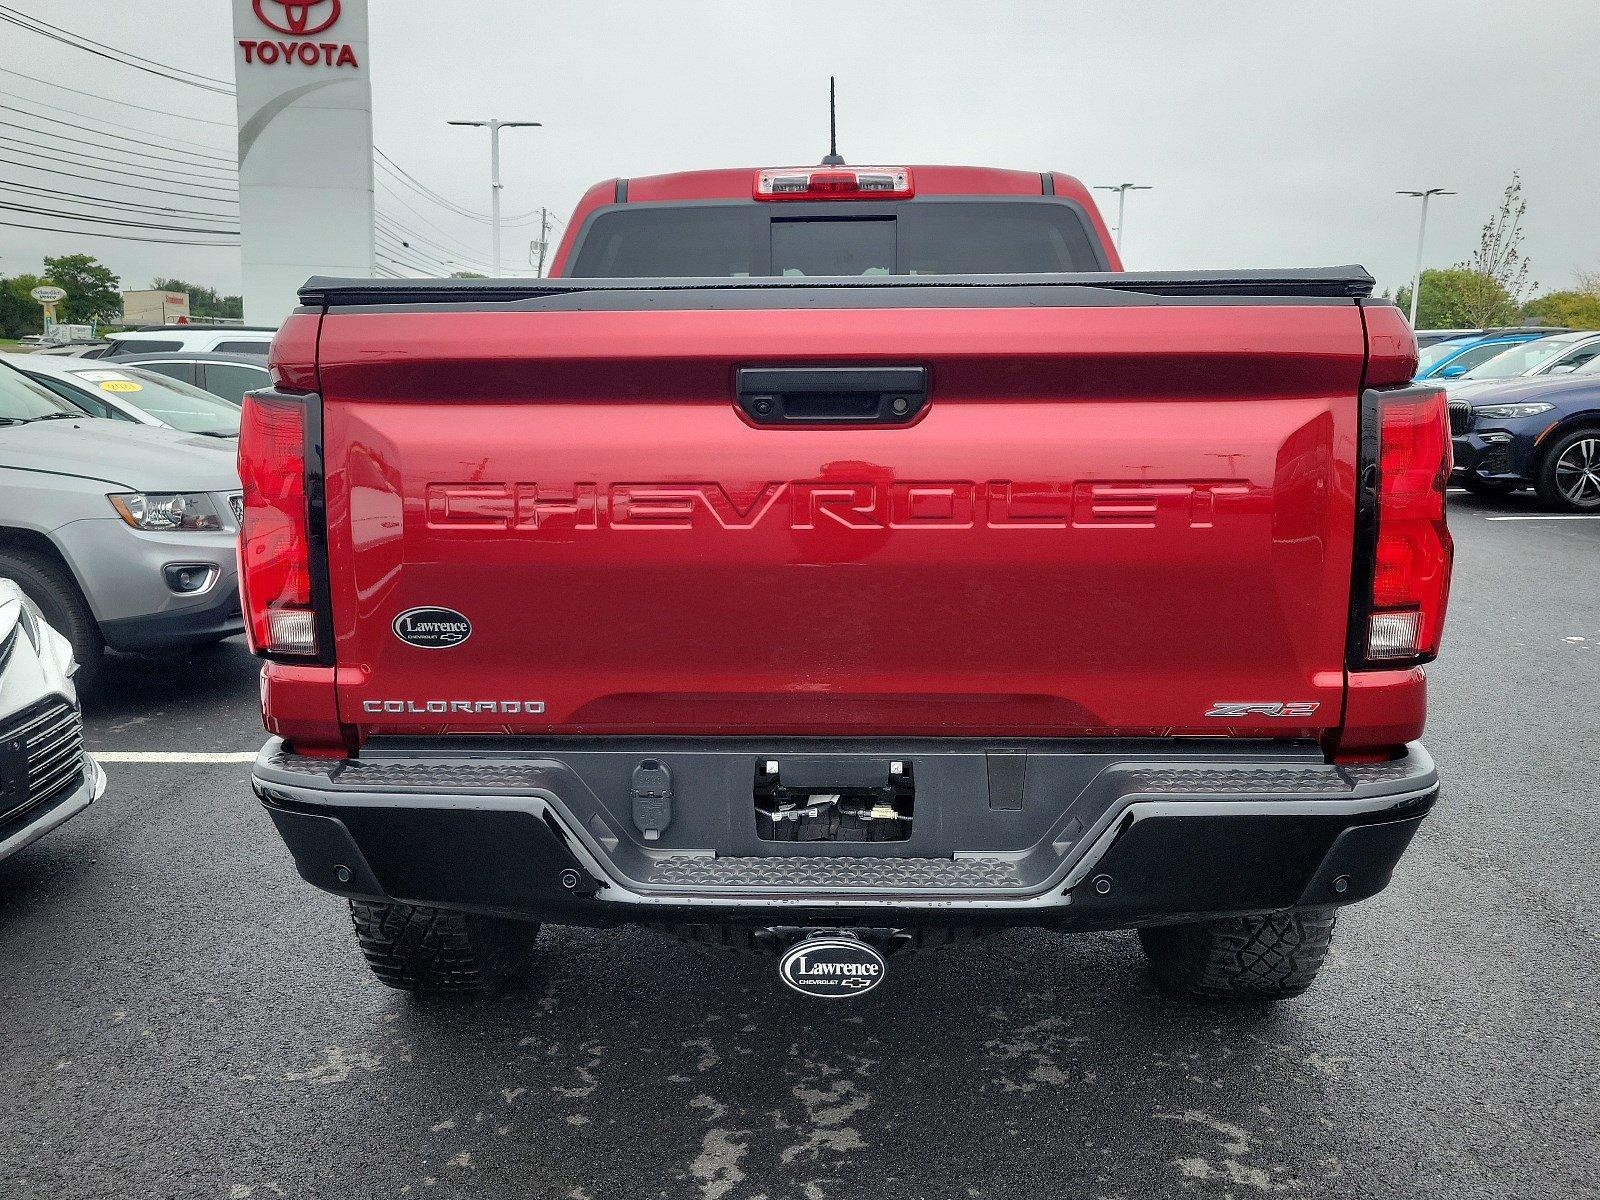
[[[243,632],[234,443],[85,416],[0,365],[0,579],[70,643],[80,686],[106,646]]]

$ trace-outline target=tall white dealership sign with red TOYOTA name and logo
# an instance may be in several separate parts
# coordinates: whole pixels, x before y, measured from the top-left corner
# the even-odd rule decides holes
[[[310,275],[373,274],[366,0],[234,0],[245,318]]]

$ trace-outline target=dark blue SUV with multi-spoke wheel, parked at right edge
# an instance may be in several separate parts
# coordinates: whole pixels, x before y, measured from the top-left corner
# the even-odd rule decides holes
[[[1533,488],[1552,509],[1600,512],[1600,358],[1450,402],[1454,477],[1480,496]]]

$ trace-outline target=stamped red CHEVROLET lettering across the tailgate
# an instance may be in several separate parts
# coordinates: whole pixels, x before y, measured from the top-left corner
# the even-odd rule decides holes
[[[1250,494],[1243,480],[894,480],[723,483],[429,483],[427,523],[448,530],[1211,528]]]

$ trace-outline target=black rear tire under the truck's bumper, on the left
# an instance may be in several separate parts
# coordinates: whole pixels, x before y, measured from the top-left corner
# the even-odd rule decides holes
[[[419,904],[350,901],[362,955],[402,992],[482,992],[510,987],[528,970],[534,922],[477,917]]]

